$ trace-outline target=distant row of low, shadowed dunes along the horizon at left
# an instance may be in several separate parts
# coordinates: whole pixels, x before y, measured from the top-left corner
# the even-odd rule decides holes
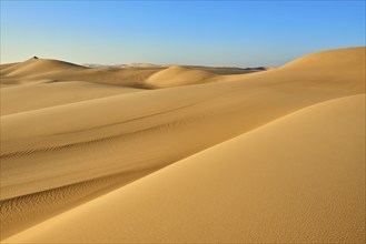
[[[158,89],[198,84],[222,79],[221,74],[251,73],[258,69],[206,68],[133,64],[129,67],[87,68],[58,60],[31,58],[17,64],[2,64],[1,84],[87,81],[131,88]]]

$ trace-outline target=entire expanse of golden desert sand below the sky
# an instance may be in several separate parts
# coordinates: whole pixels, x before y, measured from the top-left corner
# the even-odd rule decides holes
[[[2,242],[364,243],[365,51],[2,64]]]

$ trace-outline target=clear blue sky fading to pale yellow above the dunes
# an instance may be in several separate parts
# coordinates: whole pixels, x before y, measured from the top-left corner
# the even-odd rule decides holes
[[[7,1],[1,63],[280,65],[365,45],[365,1]]]

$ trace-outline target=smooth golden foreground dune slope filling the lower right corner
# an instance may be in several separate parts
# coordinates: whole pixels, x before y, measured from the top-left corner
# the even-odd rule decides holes
[[[319,103],[6,242],[362,243],[364,124],[364,95]]]

